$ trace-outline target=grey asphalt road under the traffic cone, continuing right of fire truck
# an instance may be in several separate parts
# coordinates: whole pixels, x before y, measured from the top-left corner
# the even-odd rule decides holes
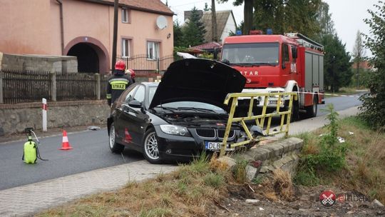
[[[340,111],[361,103],[357,97],[338,96],[327,98],[326,104],[334,104],[334,109]],[[319,105],[318,116],[327,113],[322,111],[326,104]],[[73,147],[70,151],[58,150],[61,148],[61,139],[61,136],[41,138],[39,150],[42,158],[48,158],[48,161],[38,160],[36,164],[21,161],[24,141],[0,143],[0,190],[143,160],[141,153],[127,148],[123,152],[124,158],[111,153],[106,128],[68,133],[68,140]]]

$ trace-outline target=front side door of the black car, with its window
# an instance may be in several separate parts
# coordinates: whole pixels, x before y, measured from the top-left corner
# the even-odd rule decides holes
[[[125,128],[124,141],[127,144],[132,143],[133,145],[141,146],[145,128],[149,123],[149,116],[145,111],[145,95],[146,88],[144,85],[138,85],[138,89],[135,91],[133,98],[125,101],[122,104],[123,113],[120,117],[120,121]],[[138,101],[143,106],[142,108],[134,108],[130,106],[130,101]]]

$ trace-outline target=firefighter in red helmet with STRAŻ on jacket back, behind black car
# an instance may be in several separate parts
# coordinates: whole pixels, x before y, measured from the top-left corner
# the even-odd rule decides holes
[[[125,63],[123,61],[117,61],[115,64],[115,70],[113,76],[108,79],[107,85],[107,101],[108,106],[111,106],[116,99],[119,98],[120,94],[125,91],[128,86],[133,84],[133,80],[130,76],[125,74]]]

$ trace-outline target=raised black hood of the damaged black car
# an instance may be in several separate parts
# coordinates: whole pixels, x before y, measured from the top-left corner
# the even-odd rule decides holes
[[[200,101],[225,109],[225,97],[240,93],[246,79],[226,64],[208,59],[175,61],[163,75],[150,109],[172,101]]]

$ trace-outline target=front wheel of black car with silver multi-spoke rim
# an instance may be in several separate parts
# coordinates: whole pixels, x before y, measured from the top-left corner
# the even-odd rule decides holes
[[[154,164],[162,163],[162,159],[159,156],[158,140],[154,128],[150,128],[145,132],[142,148],[143,156],[148,162]]]

